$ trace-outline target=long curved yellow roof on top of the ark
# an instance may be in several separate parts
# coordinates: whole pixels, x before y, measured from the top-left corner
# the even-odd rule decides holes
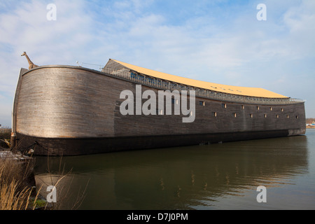
[[[174,83],[182,83],[184,85],[190,85],[190,86],[199,87],[199,88],[203,88],[207,90],[213,90],[216,92],[225,92],[228,94],[237,94],[237,95],[249,96],[249,97],[288,98],[281,94],[277,94],[275,92],[271,92],[269,90],[265,90],[258,87],[239,87],[239,86],[234,86],[234,85],[222,85],[222,84],[216,84],[216,83],[209,83],[205,81],[194,80],[191,78],[174,76],[168,73],[162,73],[160,71],[154,71],[151,69],[145,69],[140,66],[133,65],[133,64],[120,62],[116,59],[112,59],[112,60],[127,67],[128,69],[132,69],[139,73],[143,73],[144,75],[153,76],[155,78],[160,78],[164,80],[169,80]]]

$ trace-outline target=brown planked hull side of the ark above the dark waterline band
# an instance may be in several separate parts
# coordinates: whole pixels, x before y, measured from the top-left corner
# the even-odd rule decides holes
[[[183,123],[183,117],[188,116],[182,113],[174,116],[175,104],[172,104],[172,115],[146,116],[142,111],[141,115],[122,115],[120,104],[125,99],[120,99],[120,93],[123,90],[133,93],[134,111],[142,92],[152,90],[158,109],[158,90],[153,87],[142,85],[139,94],[136,83],[83,69],[35,69],[22,79],[17,132],[50,138],[132,137],[298,130],[305,126],[304,103],[268,106],[197,97],[195,119],[191,123]],[[140,99],[141,109],[147,100]]]

